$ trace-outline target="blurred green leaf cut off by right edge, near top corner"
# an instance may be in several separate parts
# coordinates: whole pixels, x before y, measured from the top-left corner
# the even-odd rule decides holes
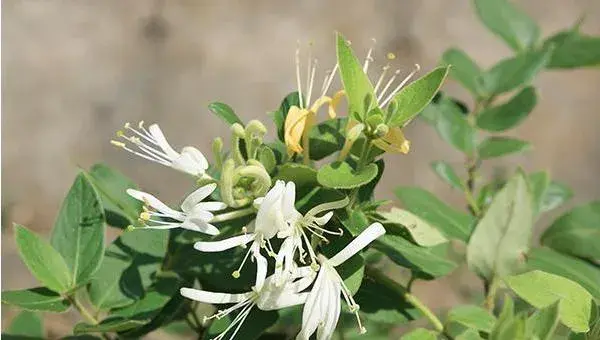
[[[581,34],[577,30],[559,32],[544,42],[553,45],[548,68],[570,69],[600,65],[600,36]]]

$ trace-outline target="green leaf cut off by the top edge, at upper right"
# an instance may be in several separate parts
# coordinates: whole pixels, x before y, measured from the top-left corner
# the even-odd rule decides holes
[[[534,46],[540,36],[535,21],[507,0],[475,0],[475,9],[481,22],[516,51]]]

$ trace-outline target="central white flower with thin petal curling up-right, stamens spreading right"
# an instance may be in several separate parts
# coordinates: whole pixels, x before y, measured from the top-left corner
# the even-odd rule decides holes
[[[333,216],[332,210],[343,208],[348,205],[348,202],[348,198],[345,197],[339,201],[317,205],[304,216],[295,210],[293,214],[289,214],[291,218],[288,220],[288,226],[277,233],[277,237],[285,239],[275,260],[274,276],[279,282],[287,280],[287,277],[292,273],[296,252],[298,252],[300,263],[306,264],[305,258],[308,255],[311,267],[318,270],[317,255],[313,250],[309,236],[314,235],[325,242],[328,242],[328,240],[324,235],[341,236],[342,229],[331,231],[325,229],[324,226]]]

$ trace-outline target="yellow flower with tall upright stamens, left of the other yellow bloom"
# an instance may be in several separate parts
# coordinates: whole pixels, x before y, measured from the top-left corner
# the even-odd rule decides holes
[[[323,80],[323,86],[321,87],[319,97],[314,102],[311,102],[315,83],[315,73],[317,70],[317,60],[312,59],[309,49],[306,89],[303,92],[302,79],[300,76],[300,49],[296,49],[296,83],[298,86],[299,105],[292,106],[287,112],[285,119],[284,140],[288,154],[292,155],[294,153],[301,153],[303,149],[307,147],[308,133],[311,127],[315,124],[317,111],[319,111],[323,105],[329,105],[329,117],[335,118],[335,107],[343,98],[344,92],[339,91],[332,97],[328,97],[326,94],[331,87],[333,79],[335,78],[337,69],[338,64],[334,66],[331,72],[327,73],[325,79]],[[306,98],[304,98],[304,95],[306,95]]]

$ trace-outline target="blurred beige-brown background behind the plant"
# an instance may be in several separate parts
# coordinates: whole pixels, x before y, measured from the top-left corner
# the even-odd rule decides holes
[[[600,1],[515,2],[538,21],[543,36],[582,14],[583,31],[600,34]],[[207,110],[210,102],[225,102],[242,119],[272,127],[266,112],[295,90],[297,40],[314,42],[323,77],[334,64],[336,30],[361,57],[376,38],[375,64],[393,52],[395,66],[404,69],[419,63],[429,70],[452,46],[484,68],[511,55],[467,0],[2,1],[2,289],[36,285],[16,253],[12,222],[47,234],[78,167],[105,162],[171,203],[190,189],[185,175],[109,144],[125,122],[158,122],[176,148],[195,145],[210,155],[212,139],[229,135]],[[532,142],[534,152],[501,158],[485,171],[517,164],[549,170],[575,191],[556,216],[600,197],[600,72],[546,71],[535,85],[538,106],[511,132]],[[469,98],[451,81],[444,88]],[[461,154],[422,122],[406,135],[411,153],[386,158],[379,197],[393,199],[392,189],[402,184],[463,204],[429,165],[445,159],[460,168]],[[458,271],[419,284],[416,294],[444,308],[462,301],[464,287],[473,285],[479,281]],[[4,326],[10,311],[3,307]],[[54,317],[48,326],[66,334],[73,318]]]

